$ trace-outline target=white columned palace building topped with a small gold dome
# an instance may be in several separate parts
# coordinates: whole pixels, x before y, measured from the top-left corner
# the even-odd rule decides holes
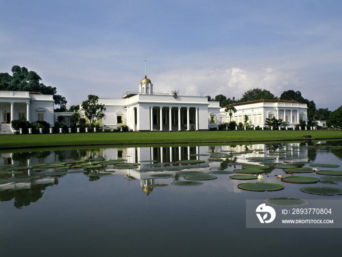
[[[208,101],[206,96],[156,93],[146,75],[137,92],[125,92],[122,98],[99,98],[99,103],[106,107],[100,123],[109,127],[126,124],[133,131],[197,131],[220,124],[219,102]]]

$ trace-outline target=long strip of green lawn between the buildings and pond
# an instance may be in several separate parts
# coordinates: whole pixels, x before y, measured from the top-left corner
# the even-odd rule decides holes
[[[99,144],[265,142],[301,140],[303,139],[303,135],[311,135],[315,139],[342,139],[342,130],[222,130],[17,134],[0,135],[0,148]]]

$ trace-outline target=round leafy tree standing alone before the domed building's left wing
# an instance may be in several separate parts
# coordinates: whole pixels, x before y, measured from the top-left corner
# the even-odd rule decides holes
[[[98,101],[99,96],[89,94],[88,99],[81,104],[84,115],[89,119],[90,124],[105,116],[105,104],[98,103]]]

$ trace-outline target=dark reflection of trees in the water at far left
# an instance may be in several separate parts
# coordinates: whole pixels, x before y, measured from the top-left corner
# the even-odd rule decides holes
[[[27,189],[19,189],[19,190],[5,190],[0,191],[0,200],[1,201],[10,201],[14,198],[14,206],[18,209],[23,206],[30,205],[31,202],[36,202],[40,198],[43,197],[42,190],[45,190],[48,186],[57,184],[58,180],[55,179],[55,182],[48,184],[38,184],[32,185],[31,188]]]

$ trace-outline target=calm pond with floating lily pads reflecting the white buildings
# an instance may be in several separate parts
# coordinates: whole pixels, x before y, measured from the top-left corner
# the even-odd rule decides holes
[[[342,189],[338,181],[320,183],[324,175],[310,170],[342,170],[339,146],[342,141],[2,151],[1,253],[2,256],[339,255],[342,230],[338,228],[246,228],[249,199],[279,196],[307,201],[342,199],[342,195],[317,195],[300,190],[307,186]],[[187,160],[192,163],[187,164]],[[124,166],[120,165],[122,162]],[[312,165],[315,163],[335,166],[317,167]],[[246,165],[260,164],[269,167],[244,171]],[[294,165],[306,171],[285,173],[286,167],[277,165]],[[251,168],[257,167],[248,169]],[[61,173],[50,173],[56,171]],[[251,175],[253,179],[232,179],[232,175]],[[292,175],[320,181],[314,184],[282,181]],[[258,180],[280,184],[283,189],[250,191],[238,187]]]

